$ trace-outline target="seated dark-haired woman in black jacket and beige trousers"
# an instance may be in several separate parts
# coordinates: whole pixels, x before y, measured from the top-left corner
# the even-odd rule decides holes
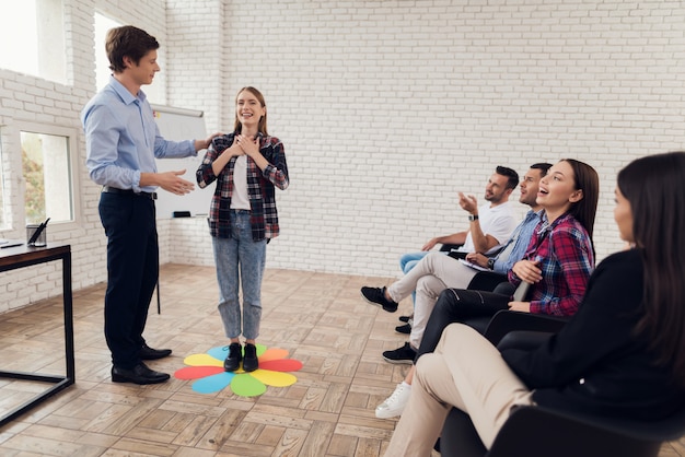
[[[488,448],[518,405],[646,422],[685,408],[683,208],[685,152],[622,169],[614,219],[636,247],[600,263],[578,313],[537,350],[500,354],[450,325],[417,363],[386,456],[429,456],[452,406]]]

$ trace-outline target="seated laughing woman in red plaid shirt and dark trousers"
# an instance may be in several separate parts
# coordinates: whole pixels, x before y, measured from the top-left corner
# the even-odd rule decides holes
[[[442,330],[500,309],[572,316],[594,270],[592,228],[600,197],[600,179],[590,165],[566,159],[553,165],[539,181],[536,202],[545,210],[522,260],[509,271],[511,292],[522,282],[531,284],[526,301],[509,293],[446,289],[438,298],[415,359],[433,352]],[[499,286],[498,286],[499,288]],[[409,400],[415,366],[393,395],[376,408],[382,419],[402,414]]]

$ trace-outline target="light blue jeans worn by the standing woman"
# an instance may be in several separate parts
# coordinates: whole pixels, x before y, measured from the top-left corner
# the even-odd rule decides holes
[[[228,338],[253,340],[262,320],[262,278],[266,263],[266,239],[252,241],[249,211],[231,210],[231,238],[212,237],[219,314]],[[243,312],[239,286],[243,291]]]

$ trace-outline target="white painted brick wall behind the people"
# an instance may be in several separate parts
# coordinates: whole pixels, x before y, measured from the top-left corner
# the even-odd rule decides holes
[[[232,128],[240,87],[264,92],[291,176],[278,195],[282,235],[269,244],[269,268],[397,276],[399,255],[466,227],[457,191],[481,198],[496,165],[524,173],[562,157],[601,175],[595,245],[604,257],[620,247],[616,171],[685,149],[685,5],[483,3],[65,0],[69,84],[0,70],[5,196],[18,192],[15,119],[80,132],[93,48],[103,47],[92,43],[97,9],[160,40],[155,84],[167,84],[167,104],[205,110],[209,131]],[[49,233],[72,244],[74,289],[106,279],[98,189],[82,136],[79,145],[82,221]],[[23,236],[16,226],[0,236]],[[204,219],[161,221],[159,232],[163,262],[213,263]],[[61,291],[54,278],[22,295],[14,285],[30,279],[0,274],[0,310]]]

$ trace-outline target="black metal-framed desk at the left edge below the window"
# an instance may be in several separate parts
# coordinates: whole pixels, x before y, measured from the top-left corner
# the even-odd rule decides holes
[[[30,267],[32,265],[45,263],[60,259],[62,261],[62,298],[65,303],[65,355],[67,375],[56,376],[40,373],[0,371],[0,377],[54,384],[54,386],[49,389],[0,417],[0,426],[23,414],[58,391],[72,385],[76,380],[76,367],[73,363],[73,309],[71,303],[71,246],[48,244],[46,247],[27,247],[26,244],[23,244],[22,246],[0,249],[0,272],[16,270],[18,268]],[[0,315],[0,319],[1,318],[2,315]]]

